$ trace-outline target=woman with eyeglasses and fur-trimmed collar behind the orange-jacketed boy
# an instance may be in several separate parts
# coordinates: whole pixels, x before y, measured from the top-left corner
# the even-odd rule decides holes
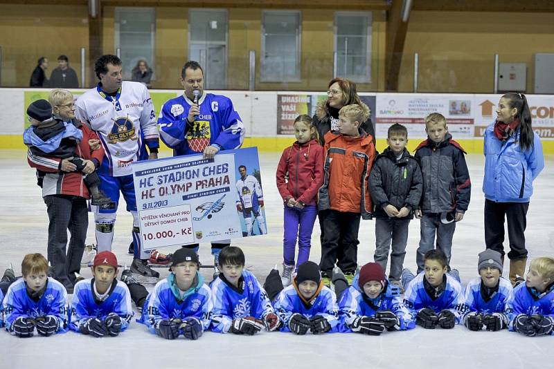
[[[339,110],[350,104],[366,106],[358,96],[356,84],[346,78],[331,79],[328,85],[327,100],[317,104],[316,113],[312,117],[312,125],[319,133],[319,143],[322,146],[325,143],[323,142],[325,133],[339,130]],[[373,144],[375,144],[375,129],[373,129],[371,119],[368,118],[366,122],[363,122],[360,128],[373,137]]]

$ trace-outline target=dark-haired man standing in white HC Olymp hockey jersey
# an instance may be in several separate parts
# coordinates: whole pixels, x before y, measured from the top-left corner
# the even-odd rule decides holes
[[[105,150],[98,176],[100,189],[113,203],[95,209],[98,252],[111,251],[121,193],[133,216],[131,271],[143,283],[156,283],[159,273],[146,265],[150,256],[142,249],[131,170],[133,162],[158,158],[159,134],[152,99],[143,84],[123,81],[121,59],[116,55],[98,58],[94,72],[100,82],[78,98],[75,115],[98,133]]]

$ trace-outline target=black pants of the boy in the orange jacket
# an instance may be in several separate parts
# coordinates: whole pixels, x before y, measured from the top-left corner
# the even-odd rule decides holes
[[[358,266],[359,213],[325,210],[325,236],[321,245],[319,269],[330,278],[335,262],[343,273],[355,272]]]

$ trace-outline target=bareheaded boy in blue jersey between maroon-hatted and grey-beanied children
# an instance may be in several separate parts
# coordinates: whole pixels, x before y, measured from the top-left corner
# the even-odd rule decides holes
[[[402,272],[404,284],[404,305],[415,323],[423,328],[451,329],[461,320],[463,304],[462,285],[447,274],[448,263],[445,253],[440,249],[425,253],[423,272],[413,277],[408,269]]]

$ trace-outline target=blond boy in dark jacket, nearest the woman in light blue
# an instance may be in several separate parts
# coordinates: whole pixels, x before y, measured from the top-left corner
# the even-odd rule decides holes
[[[423,270],[425,253],[435,248],[435,234],[436,248],[445,253],[450,264],[456,222],[463,219],[471,196],[465,151],[452,140],[446,118],[440,113],[427,115],[425,132],[429,137],[415,149],[423,175],[420,209],[415,210],[415,217],[421,219],[420,246],[415,258],[418,273]]]

